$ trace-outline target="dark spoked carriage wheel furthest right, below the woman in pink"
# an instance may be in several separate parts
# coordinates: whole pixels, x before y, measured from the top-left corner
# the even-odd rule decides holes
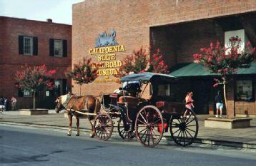
[[[184,115],[171,118],[170,133],[177,145],[191,145],[198,133],[198,120],[192,110],[186,110]]]

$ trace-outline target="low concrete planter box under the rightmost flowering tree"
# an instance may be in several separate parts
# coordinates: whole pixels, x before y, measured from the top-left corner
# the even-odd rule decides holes
[[[250,127],[251,118],[237,118],[237,119],[220,119],[220,118],[206,118],[205,127],[207,128],[248,128]]]

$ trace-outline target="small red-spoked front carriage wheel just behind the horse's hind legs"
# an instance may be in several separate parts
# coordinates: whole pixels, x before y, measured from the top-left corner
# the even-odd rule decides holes
[[[109,114],[101,113],[96,116],[94,132],[99,140],[109,140],[113,133],[113,121]]]

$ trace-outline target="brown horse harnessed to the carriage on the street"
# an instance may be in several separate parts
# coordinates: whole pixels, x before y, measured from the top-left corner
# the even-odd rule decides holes
[[[77,95],[61,95],[56,99],[56,113],[59,113],[61,108],[65,108],[67,110],[67,114],[69,116],[69,132],[67,135],[71,136],[72,134],[72,117],[73,115],[77,118],[77,136],[80,135],[79,133],[79,116],[81,113],[98,113],[100,110],[100,103],[97,98],[93,95],[84,95],[84,96],[77,96]],[[94,137],[94,128],[92,120],[94,120],[94,115],[88,115],[89,123],[92,126],[92,133],[91,137]]]

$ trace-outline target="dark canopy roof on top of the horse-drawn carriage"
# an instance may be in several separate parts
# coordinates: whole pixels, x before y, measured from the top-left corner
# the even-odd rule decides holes
[[[167,75],[167,74],[160,74],[160,73],[138,73],[138,74],[129,74],[121,78],[121,82],[126,81],[142,81],[142,82],[151,82],[154,83],[174,83],[178,81],[179,78]]]

